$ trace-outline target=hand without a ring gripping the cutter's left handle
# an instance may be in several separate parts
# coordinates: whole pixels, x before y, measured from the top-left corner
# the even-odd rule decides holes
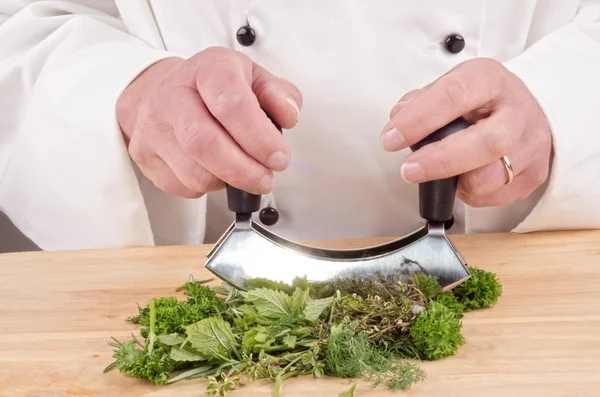
[[[273,171],[290,160],[265,112],[292,128],[301,106],[293,84],[240,52],[213,47],[147,68],[119,97],[117,119],[132,160],[159,189],[198,198],[225,182],[265,194]]]

